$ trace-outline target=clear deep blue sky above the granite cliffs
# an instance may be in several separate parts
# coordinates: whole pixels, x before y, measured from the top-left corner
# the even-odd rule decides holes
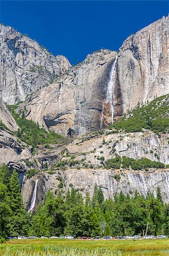
[[[100,48],[118,50],[130,34],[168,14],[167,1],[0,1],[1,23],[71,64]]]

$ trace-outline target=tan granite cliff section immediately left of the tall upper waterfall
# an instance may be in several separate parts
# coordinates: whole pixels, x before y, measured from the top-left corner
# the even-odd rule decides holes
[[[48,87],[32,94],[18,108],[40,126],[67,135],[83,135],[102,128],[103,105],[107,124],[111,104],[106,100],[107,84],[117,53],[100,50]],[[104,99],[104,102],[103,102]]]

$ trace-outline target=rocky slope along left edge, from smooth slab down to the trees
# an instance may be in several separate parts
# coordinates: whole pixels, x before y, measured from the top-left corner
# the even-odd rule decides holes
[[[0,121],[0,166],[6,164],[10,170],[15,168],[19,173],[20,185],[22,185],[24,171],[28,169],[28,166],[33,168],[36,164],[33,162],[33,156],[27,144],[14,135],[14,131],[17,131],[19,127],[1,99]]]

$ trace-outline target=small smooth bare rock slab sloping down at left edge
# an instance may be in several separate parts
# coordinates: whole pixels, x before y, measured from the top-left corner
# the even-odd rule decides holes
[[[15,122],[14,117],[12,117],[9,109],[5,103],[0,99],[0,121],[11,131],[18,130],[18,125]]]

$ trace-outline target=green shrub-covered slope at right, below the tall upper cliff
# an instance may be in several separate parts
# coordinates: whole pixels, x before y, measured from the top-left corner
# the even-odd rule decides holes
[[[152,130],[155,133],[167,133],[169,129],[169,94],[156,98],[142,108],[134,109],[129,114],[114,122],[110,129],[124,130],[129,133]]]

